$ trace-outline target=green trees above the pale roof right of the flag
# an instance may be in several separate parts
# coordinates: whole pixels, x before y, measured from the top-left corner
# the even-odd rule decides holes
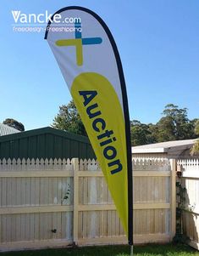
[[[198,119],[189,120],[187,109],[178,105],[166,105],[163,117],[156,124],[139,121],[130,123],[131,144],[146,145],[156,142],[180,139],[195,139],[199,133]]]

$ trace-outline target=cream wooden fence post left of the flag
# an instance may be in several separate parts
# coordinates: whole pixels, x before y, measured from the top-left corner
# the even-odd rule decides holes
[[[74,171],[74,219],[73,219],[73,236],[74,242],[78,244],[78,204],[79,204],[79,161],[78,158],[72,159]]]

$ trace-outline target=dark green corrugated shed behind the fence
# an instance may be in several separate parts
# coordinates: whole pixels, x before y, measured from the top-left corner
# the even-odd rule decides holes
[[[0,159],[73,157],[95,158],[87,137],[50,127],[0,137]]]

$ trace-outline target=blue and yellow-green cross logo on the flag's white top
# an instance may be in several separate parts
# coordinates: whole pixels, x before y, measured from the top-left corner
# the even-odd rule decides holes
[[[75,39],[62,39],[56,41],[58,46],[75,46],[76,48],[76,64],[83,65],[83,45],[100,44],[101,37],[81,37],[81,24],[75,23]]]

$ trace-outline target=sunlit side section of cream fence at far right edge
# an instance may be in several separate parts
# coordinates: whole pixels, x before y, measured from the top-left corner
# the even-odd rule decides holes
[[[185,210],[183,211],[183,233],[189,244],[199,249],[199,159],[178,160],[185,187]]]

